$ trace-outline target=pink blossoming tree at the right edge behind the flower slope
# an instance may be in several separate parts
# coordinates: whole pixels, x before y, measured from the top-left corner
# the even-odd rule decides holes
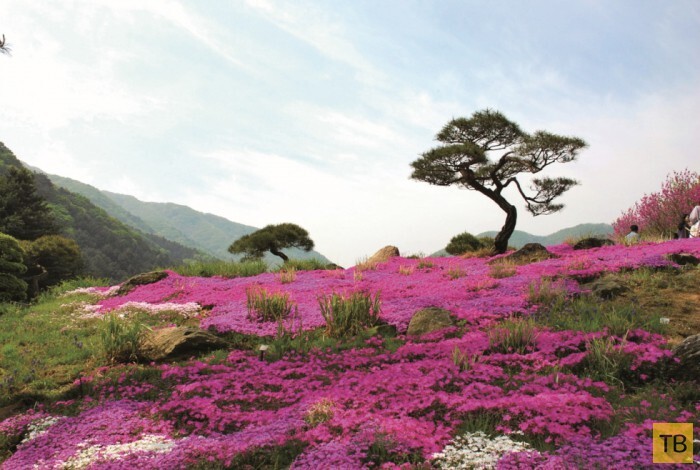
[[[636,224],[647,236],[668,237],[678,227],[681,216],[700,202],[700,174],[684,170],[666,177],[661,191],[645,194],[613,222],[615,234],[622,236]]]

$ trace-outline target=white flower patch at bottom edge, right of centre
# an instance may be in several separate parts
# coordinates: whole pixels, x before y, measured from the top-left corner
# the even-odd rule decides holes
[[[433,463],[440,469],[495,469],[504,455],[528,450],[532,450],[528,444],[513,441],[508,436],[467,433],[455,437],[442,452],[433,454]]]

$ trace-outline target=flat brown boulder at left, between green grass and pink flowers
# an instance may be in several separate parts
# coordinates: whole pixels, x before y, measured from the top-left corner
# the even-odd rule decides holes
[[[172,361],[227,347],[227,341],[208,331],[175,326],[150,332],[141,344],[140,354],[147,361]]]

